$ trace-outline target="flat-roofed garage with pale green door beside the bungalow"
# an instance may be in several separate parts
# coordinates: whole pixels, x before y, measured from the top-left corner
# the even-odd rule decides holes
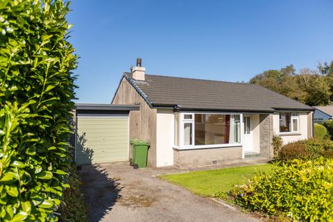
[[[137,105],[76,104],[77,165],[128,160],[129,114]]]

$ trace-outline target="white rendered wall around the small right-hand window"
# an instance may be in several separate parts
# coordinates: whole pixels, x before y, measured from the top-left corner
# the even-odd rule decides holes
[[[273,114],[273,131],[274,135],[280,135],[283,140],[283,144],[288,144],[290,142],[296,142],[301,139],[307,139],[307,113],[306,112],[298,112],[299,114],[299,132],[298,133],[280,133],[280,121],[279,121],[279,113]],[[309,123],[311,124],[311,123]]]

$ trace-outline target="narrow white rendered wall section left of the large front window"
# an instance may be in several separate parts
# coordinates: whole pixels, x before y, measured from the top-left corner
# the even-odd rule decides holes
[[[156,167],[171,166],[175,136],[173,110],[157,110],[156,125]]]

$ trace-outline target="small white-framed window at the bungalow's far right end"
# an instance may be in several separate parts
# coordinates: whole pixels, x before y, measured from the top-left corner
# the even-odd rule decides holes
[[[280,112],[280,133],[298,132],[298,113]]]

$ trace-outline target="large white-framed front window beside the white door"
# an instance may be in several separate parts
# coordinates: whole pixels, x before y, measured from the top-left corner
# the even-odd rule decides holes
[[[180,119],[180,122],[178,123]],[[176,146],[241,143],[240,114],[176,114]],[[179,124],[179,125],[178,125]],[[180,130],[177,129],[179,127]],[[178,138],[178,135],[176,135]]]

